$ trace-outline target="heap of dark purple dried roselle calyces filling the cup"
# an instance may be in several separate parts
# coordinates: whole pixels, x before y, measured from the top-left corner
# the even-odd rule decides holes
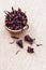
[[[4,12],[5,16],[5,26],[12,30],[22,29],[28,22],[26,13],[24,13],[20,9],[17,11],[12,6],[12,12]]]

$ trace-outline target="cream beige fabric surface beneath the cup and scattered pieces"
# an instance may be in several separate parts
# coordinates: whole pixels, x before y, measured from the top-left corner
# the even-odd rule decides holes
[[[28,16],[30,26],[26,33],[35,38],[34,54],[26,52],[29,44],[24,42],[24,50],[16,55],[19,47],[10,44],[10,33],[4,28],[4,11],[20,8]],[[21,38],[26,34],[24,33]],[[0,0],[0,70],[46,70],[46,0]]]

